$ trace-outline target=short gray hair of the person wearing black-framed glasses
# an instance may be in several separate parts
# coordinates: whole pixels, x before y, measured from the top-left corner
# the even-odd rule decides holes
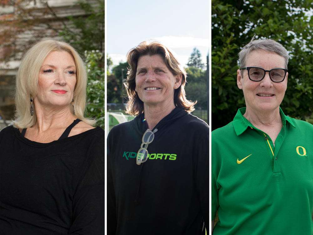
[[[238,53],[240,63],[239,69],[246,67],[247,56],[254,50],[265,50],[270,53],[276,53],[280,56],[283,56],[285,58],[285,69],[287,69],[289,55],[286,48],[273,39],[254,40],[254,36],[252,37],[251,41]]]

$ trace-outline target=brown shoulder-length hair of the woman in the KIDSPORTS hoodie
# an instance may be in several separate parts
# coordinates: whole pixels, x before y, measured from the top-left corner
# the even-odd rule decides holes
[[[143,55],[161,55],[167,68],[172,72],[174,76],[182,74],[182,83],[180,87],[178,87],[174,91],[174,104],[176,107],[181,107],[187,112],[192,112],[193,110],[195,110],[194,105],[197,103],[197,101],[192,102],[187,100],[186,98],[185,84],[187,73],[182,65],[175,58],[173,53],[160,42],[143,41],[138,46],[129,50],[126,56],[127,62],[130,66],[127,72],[127,79],[124,82],[129,99],[126,103],[126,112],[134,116],[137,116],[144,112],[143,102],[138,97],[138,94],[135,91],[137,63],[139,57]]]

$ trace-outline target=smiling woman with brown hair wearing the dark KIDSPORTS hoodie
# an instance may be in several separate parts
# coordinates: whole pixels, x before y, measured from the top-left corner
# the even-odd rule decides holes
[[[192,116],[186,72],[159,42],[127,54],[128,113],[108,136],[108,234],[205,234],[209,128]]]

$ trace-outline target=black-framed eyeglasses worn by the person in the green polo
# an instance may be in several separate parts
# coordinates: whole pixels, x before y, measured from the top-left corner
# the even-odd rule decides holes
[[[269,78],[273,82],[282,82],[285,79],[288,69],[274,68],[265,70],[260,67],[246,67],[242,68],[248,70],[248,76],[251,81],[261,81],[265,77],[265,72],[269,72]]]

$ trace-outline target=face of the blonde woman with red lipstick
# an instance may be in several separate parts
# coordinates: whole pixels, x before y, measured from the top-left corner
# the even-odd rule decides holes
[[[68,106],[76,84],[76,66],[66,51],[52,51],[45,58],[38,74],[38,93],[35,105]]]

